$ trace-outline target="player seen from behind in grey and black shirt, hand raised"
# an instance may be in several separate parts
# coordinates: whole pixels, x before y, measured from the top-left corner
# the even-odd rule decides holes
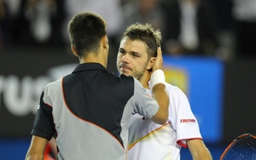
[[[90,12],[69,22],[71,48],[80,64],[44,88],[26,159],[44,159],[54,137],[60,160],[125,160],[132,113],[166,123],[169,99],[160,50],[152,73],[154,100],[134,77],[108,73],[106,27],[101,16]]]

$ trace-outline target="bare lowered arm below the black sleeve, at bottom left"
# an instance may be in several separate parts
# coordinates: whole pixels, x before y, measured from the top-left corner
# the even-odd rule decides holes
[[[44,150],[48,143],[47,139],[32,136],[31,144],[26,152],[26,160],[44,160]]]

